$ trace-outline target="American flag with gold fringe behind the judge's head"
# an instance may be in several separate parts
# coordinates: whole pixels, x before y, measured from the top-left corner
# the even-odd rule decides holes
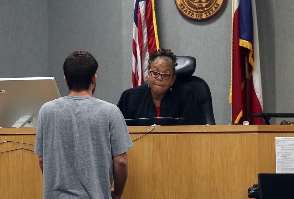
[[[154,0],[135,0],[133,30],[133,87],[148,77],[149,54],[159,48]]]

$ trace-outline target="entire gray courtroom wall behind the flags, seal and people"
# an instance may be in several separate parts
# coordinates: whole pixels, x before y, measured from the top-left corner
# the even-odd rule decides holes
[[[94,96],[116,104],[131,86],[133,3],[5,0],[0,7],[0,77],[55,76],[64,96],[68,91],[63,61],[82,49],[99,63]],[[256,4],[264,112],[294,112],[294,46],[289,42],[294,2],[258,0]],[[216,123],[230,123],[232,2],[225,1],[220,12],[206,21],[184,17],[174,1],[155,1],[155,6],[160,46],[197,59],[194,75],[210,86]]]

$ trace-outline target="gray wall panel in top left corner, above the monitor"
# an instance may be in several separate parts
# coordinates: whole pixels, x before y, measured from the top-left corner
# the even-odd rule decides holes
[[[0,77],[47,76],[46,0],[2,0]]]

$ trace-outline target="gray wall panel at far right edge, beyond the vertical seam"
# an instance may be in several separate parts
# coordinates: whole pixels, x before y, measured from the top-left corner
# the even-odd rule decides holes
[[[294,1],[284,0],[276,6],[276,111],[294,113]],[[285,118],[294,121],[294,118]],[[277,119],[280,123],[283,118]]]

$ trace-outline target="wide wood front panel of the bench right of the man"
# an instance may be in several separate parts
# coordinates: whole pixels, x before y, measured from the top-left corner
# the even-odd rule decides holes
[[[123,198],[245,199],[247,188],[258,182],[257,137],[147,135],[128,151],[130,173]]]

